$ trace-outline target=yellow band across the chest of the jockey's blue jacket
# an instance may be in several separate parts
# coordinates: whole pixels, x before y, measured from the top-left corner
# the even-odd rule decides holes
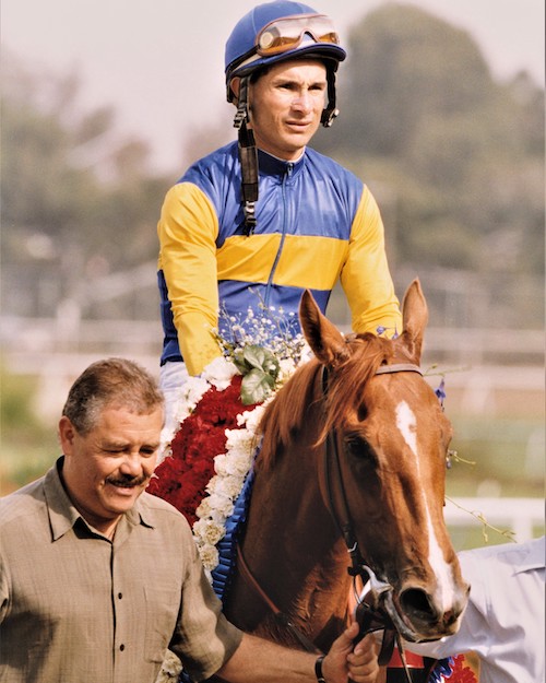
[[[217,252],[218,279],[266,283],[280,244],[278,234],[229,237]],[[346,242],[332,237],[286,235],[273,282],[330,290],[339,278],[347,247]]]

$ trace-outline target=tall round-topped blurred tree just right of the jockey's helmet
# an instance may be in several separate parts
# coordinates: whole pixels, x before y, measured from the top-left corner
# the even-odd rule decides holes
[[[363,153],[394,156],[406,152],[424,122],[475,109],[492,90],[488,66],[466,32],[396,3],[353,28],[344,83],[343,118]],[[351,149],[346,138],[345,144]]]

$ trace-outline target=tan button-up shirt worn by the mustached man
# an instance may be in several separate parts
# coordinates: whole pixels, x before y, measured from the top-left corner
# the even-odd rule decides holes
[[[169,647],[209,678],[238,647],[186,519],[143,493],[110,541],[58,467],[0,499],[0,682],[153,683]]]

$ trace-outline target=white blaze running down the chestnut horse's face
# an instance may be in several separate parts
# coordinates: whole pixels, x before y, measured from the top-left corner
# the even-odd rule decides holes
[[[396,426],[402,434],[404,441],[407,444],[410,450],[415,457],[415,468],[417,471],[418,479],[420,479],[420,458],[418,451],[418,439],[417,439],[417,419],[415,413],[406,403],[406,401],[401,401],[396,405]],[[443,608],[444,611],[451,609],[455,596],[453,587],[455,585],[455,577],[453,576],[453,569],[451,565],[449,565],[444,557],[442,549],[438,542],[435,528],[432,526],[432,520],[430,517],[430,510],[427,503],[427,498],[425,493],[422,492],[423,503],[426,509],[426,518],[427,518],[427,528],[428,528],[428,562],[435,576],[438,580],[438,592],[437,596],[438,604]]]

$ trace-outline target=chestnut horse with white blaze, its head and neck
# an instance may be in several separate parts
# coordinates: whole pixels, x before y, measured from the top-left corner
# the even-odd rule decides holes
[[[394,340],[344,337],[309,292],[300,319],[316,357],[265,409],[224,611],[246,632],[301,647],[290,622],[328,651],[347,623],[352,558],[405,639],[450,635],[467,586],[442,510],[452,428],[418,368],[428,319],[419,282]]]

